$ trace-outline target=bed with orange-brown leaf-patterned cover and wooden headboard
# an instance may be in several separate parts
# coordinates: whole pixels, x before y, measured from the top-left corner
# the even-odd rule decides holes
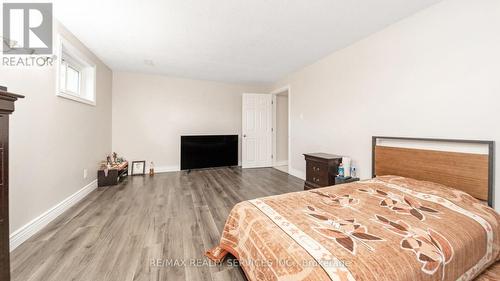
[[[251,281],[498,280],[493,149],[374,137],[374,178],[241,202],[207,255],[231,253]]]

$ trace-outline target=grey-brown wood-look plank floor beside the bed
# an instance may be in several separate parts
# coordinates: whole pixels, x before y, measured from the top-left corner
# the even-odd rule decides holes
[[[236,203],[302,188],[273,168],[129,177],[92,192],[15,249],[12,280],[245,280],[231,262],[207,265],[204,251],[218,244]]]

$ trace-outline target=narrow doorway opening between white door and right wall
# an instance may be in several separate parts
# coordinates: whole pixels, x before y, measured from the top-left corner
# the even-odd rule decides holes
[[[273,167],[289,173],[290,159],[290,89],[271,93],[273,99]]]

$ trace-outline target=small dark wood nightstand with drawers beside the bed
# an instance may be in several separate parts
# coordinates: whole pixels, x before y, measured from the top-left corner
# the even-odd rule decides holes
[[[304,154],[306,159],[306,181],[304,189],[335,185],[342,156],[327,153]]]

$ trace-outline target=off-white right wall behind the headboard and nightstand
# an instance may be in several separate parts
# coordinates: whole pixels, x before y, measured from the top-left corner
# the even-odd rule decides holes
[[[325,151],[368,178],[372,135],[500,142],[499,14],[496,0],[443,1],[277,82],[291,87],[291,172]]]

